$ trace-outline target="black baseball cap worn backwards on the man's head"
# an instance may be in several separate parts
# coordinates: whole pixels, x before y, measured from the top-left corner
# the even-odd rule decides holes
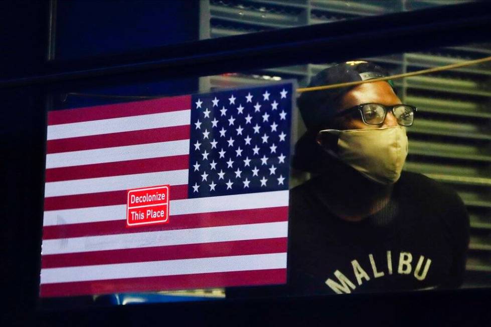
[[[387,77],[389,73],[382,67],[366,61],[348,61],[336,64],[315,75],[308,87],[357,82]],[[387,81],[394,88],[392,81]],[[340,98],[354,86],[343,88],[306,91],[297,99],[297,106],[308,130],[319,131],[336,114]]]

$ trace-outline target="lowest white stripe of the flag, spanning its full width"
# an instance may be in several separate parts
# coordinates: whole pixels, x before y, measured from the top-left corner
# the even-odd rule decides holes
[[[198,259],[47,268],[41,270],[41,283],[49,284],[281,268],[286,268],[286,253],[234,255]]]

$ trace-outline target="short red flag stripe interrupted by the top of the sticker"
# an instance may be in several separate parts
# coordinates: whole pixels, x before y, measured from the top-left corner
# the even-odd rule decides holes
[[[155,181],[155,185],[162,181]],[[188,185],[172,185],[172,200],[188,198]],[[52,196],[44,199],[44,210],[63,210],[126,204],[126,190],[88,194]]]

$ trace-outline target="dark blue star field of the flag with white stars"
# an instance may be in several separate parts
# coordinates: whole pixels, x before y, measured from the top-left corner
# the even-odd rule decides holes
[[[189,198],[288,189],[291,84],[192,98]]]

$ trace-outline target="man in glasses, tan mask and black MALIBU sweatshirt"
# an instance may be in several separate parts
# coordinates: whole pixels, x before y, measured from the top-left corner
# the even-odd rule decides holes
[[[347,62],[309,86],[388,76]],[[307,132],[296,169],[315,177],[291,190],[288,288],[336,294],[452,288],[462,283],[469,220],[459,196],[421,174],[402,171],[416,108],[391,81],[304,92]]]

